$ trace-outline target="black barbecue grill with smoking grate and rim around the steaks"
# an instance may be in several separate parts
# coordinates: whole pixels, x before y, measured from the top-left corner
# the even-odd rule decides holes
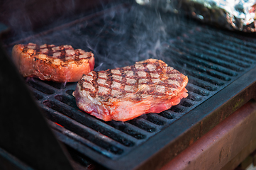
[[[153,25],[147,26],[148,23]],[[207,26],[133,1],[112,2],[57,24],[23,35],[2,36],[1,61],[9,65],[1,63],[4,79],[0,80],[0,103],[4,112],[0,115],[0,132],[5,140],[0,143],[0,155],[7,159],[11,153],[21,159],[16,162],[20,169],[27,165],[50,169],[42,164],[51,159],[56,164],[53,169],[71,169],[70,164],[77,169],[159,169],[238,108],[255,100],[255,34]],[[76,83],[18,77],[10,60],[11,49],[28,42],[68,44],[92,51],[96,70],[124,67],[149,57],[163,60],[188,75],[189,96],[159,114],[150,113],[127,122],[104,122],[77,108],[72,96]],[[21,110],[15,108],[16,103]],[[28,141],[15,146],[18,135]],[[35,139],[30,142],[33,136]],[[33,144],[35,141],[39,143]],[[44,159],[38,163],[28,160],[38,152],[50,155],[48,150],[54,150],[55,156],[35,156],[34,159]]]

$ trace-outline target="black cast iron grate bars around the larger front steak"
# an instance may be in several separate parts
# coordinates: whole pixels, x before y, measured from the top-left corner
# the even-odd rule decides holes
[[[237,50],[227,50],[223,46],[223,43],[232,43],[242,45],[240,48],[243,49],[243,42],[239,39],[230,42],[229,35],[211,36],[208,41],[214,43],[208,47],[204,38],[199,41],[198,34],[208,38],[208,33],[197,32],[189,38],[182,37],[166,42],[168,45],[163,55],[177,57],[174,60],[175,68],[189,76],[189,97],[184,98],[178,106],[160,114],[142,115],[125,123],[105,123],[79,111],[72,96],[76,83],[67,83],[64,86],[38,79],[28,79],[27,82],[45,111],[46,118],[59,125],[50,123],[57,134],[68,134],[67,137],[81,142],[84,147],[117,159],[216,94],[255,64],[253,50],[252,53],[240,50],[237,54]],[[247,55],[241,57],[240,54],[243,53]],[[65,140],[62,142],[72,145]]]

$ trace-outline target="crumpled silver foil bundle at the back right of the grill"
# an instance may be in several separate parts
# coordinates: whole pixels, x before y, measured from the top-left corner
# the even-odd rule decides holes
[[[256,32],[256,0],[136,0],[140,5],[182,13],[214,26]]]

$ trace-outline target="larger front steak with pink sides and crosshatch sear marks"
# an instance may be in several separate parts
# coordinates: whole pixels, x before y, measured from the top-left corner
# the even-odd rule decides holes
[[[188,78],[161,60],[89,72],[73,96],[77,106],[105,121],[126,121],[144,113],[160,113],[188,96]]]

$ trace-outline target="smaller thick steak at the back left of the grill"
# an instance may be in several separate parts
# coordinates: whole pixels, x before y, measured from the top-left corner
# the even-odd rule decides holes
[[[23,77],[42,80],[79,81],[94,69],[94,54],[71,45],[14,45],[12,57]]]

